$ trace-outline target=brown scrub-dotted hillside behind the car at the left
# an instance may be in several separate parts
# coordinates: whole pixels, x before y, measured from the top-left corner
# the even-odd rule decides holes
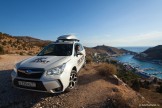
[[[30,36],[11,36],[0,32],[0,53],[35,55],[50,42]]]

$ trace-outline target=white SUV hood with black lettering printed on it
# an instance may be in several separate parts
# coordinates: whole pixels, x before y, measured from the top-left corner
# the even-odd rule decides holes
[[[20,62],[18,68],[44,68],[47,70],[68,62],[70,58],[71,56],[34,56]]]

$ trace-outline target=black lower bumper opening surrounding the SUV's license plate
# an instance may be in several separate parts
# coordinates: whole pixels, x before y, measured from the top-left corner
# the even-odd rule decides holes
[[[36,87],[29,87],[29,86],[19,85],[18,81],[35,83],[36,84]],[[14,79],[14,82],[13,83],[14,83],[15,86],[20,87],[20,88],[24,88],[24,89],[47,91],[41,81],[31,81],[31,80],[23,80],[23,79]]]

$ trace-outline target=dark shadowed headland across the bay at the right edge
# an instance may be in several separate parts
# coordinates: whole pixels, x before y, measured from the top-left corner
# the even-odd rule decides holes
[[[141,60],[162,60],[162,45],[158,45],[137,54],[134,58]]]

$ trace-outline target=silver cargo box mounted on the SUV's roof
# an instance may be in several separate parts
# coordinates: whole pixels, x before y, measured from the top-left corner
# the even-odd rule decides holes
[[[58,38],[57,38],[57,41],[59,42],[59,41],[78,41],[79,42],[79,39],[77,39],[76,38],[76,36],[74,36],[74,35],[62,35],[62,36],[59,36]]]

